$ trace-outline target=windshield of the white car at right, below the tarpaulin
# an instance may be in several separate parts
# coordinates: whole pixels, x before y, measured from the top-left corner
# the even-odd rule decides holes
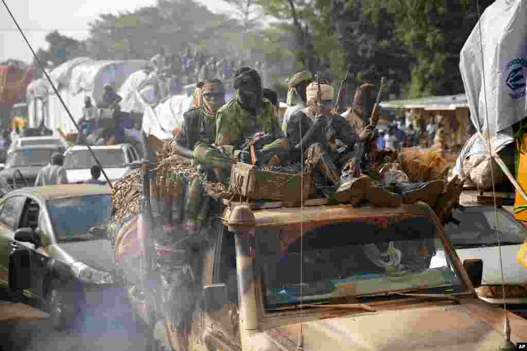
[[[465,212],[454,210],[461,224],[449,223],[445,235],[456,248],[495,246],[498,244],[493,206],[465,207]],[[497,209],[497,228],[503,245],[519,245],[527,238],[527,230],[502,208]]]

